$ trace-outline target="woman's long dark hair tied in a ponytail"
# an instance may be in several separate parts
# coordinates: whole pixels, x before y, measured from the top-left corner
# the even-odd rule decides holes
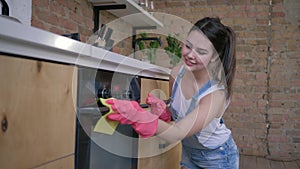
[[[205,17],[194,24],[194,29],[201,30],[213,44],[223,64],[229,98],[232,94],[232,83],[235,74],[235,33],[223,25],[219,18]],[[191,30],[191,31],[192,31]]]

